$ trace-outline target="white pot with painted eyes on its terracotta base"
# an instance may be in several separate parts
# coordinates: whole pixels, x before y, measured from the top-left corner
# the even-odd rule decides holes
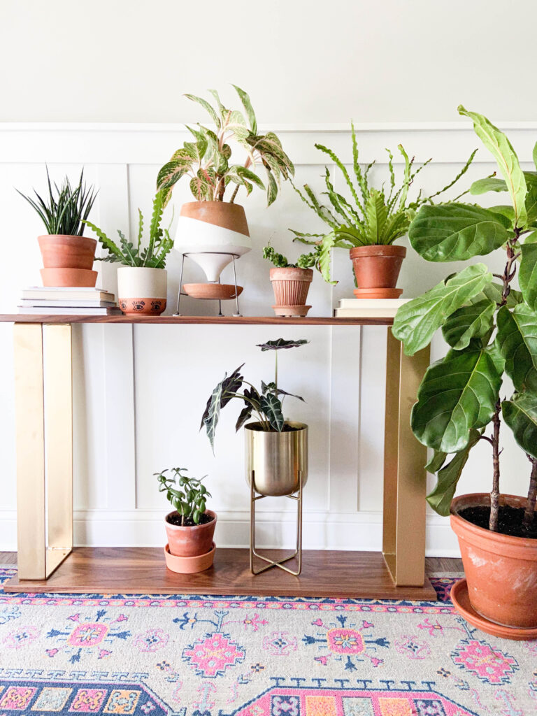
[[[160,316],[166,308],[165,269],[121,266],[117,269],[117,299],[126,315]]]

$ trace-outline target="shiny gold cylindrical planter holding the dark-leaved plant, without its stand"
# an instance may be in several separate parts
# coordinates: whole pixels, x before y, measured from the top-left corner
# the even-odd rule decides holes
[[[258,422],[244,426],[246,437],[246,482],[253,474],[254,489],[260,495],[292,495],[308,479],[308,426],[303,422],[286,422],[295,430],[267,432]]]

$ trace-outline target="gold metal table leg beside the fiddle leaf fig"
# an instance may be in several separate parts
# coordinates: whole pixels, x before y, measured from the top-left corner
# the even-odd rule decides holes
[[[387,334],[382,553],[397,586],[422,586],[427,448],[412,434],[410,411],[430,350],[408,357],[390,328]]]

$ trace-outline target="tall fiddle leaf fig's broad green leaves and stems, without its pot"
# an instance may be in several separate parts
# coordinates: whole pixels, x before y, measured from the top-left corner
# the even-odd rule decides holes
[[[492,274],[475,263],[448,276],[402,306],[392,331],[407,355],[425,348],[438,329],[450,345],[427,369],[412,409],[412,431],[434,450],[427,469],[437,473],[437,485],[429,504],[449,513],[470,450],[485,440],[493,468],[489,528],[498,531],[503,421],[531,463],[523,515],[529,534],[537,496],[537,172],[521,170],[508,138],[486,117],[462,106],[459,112],[473,121],[500,173],[476,181],[470,193],[506,192],[511,203],[423,205],[410,224],[410,243],[427,261],[466,261],[501,250],[505,268]],[[537,167],[537,145],[533,160]],[[513,289],[517,272],[521,291]],[[502,395],[505,375],[513,382],[511,397]]]

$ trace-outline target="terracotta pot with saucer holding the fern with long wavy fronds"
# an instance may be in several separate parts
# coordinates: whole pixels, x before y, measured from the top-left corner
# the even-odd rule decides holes
[[[349,253],[359,289],[395,289],[407,254],[405,246],[355,246]],[[370,294],[367,298],[384,296],[380,291],[379,296]]]

